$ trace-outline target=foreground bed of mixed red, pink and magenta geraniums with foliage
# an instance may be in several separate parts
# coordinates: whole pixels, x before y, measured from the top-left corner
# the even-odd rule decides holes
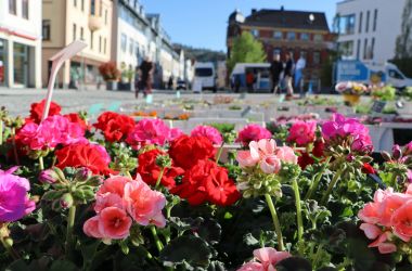
[[[412,268],[412,143],[372,158],[374,129],[402,125],[306,114],[183,132],[56,103],[41,120],[44,104],[0,112],[1,270]]]

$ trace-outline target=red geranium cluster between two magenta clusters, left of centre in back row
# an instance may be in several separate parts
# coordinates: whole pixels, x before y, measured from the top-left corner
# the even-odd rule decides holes
[[[99,116],[94,127],[103,131],[104,138],[108,142],[121,141],[134,128],[134,120],[126,115],[120,115],[114,112],[104,112]]]

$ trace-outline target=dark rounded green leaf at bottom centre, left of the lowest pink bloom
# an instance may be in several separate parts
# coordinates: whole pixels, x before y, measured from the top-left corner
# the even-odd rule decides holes
[[[211,250],[207,243],[195,236],[172,240],[160,253],[159,260],[166,267],[176,267],[184,261],[193,267],[207,267]]]

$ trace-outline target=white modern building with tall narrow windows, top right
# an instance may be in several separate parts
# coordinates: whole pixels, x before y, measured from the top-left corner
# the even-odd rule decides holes
[[[407,0],[347,0],[337,3],[334,27],[344,59],[385,63],[394,59]]]

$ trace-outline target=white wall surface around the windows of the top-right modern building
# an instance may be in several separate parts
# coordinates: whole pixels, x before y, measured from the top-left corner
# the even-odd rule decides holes
[[[363,59],[364,40],[371,46],[375,38],[373,59],[384,63],[395,56],[396,39],[401,33],[402,12],[405,0],[348,0],[337,3],[336,13],[339,16],[355,14],[355,34],[342,35],[338,42],[353,41],[351,59],[357,57],[358,40],[360,39],[360,60]],[[376,30],[373,31],[374,11],[377,9]],[[370,11],[369,31],[365,33],[366,13]],[[362,30],[359,33],[360,13],[363,13]]]

